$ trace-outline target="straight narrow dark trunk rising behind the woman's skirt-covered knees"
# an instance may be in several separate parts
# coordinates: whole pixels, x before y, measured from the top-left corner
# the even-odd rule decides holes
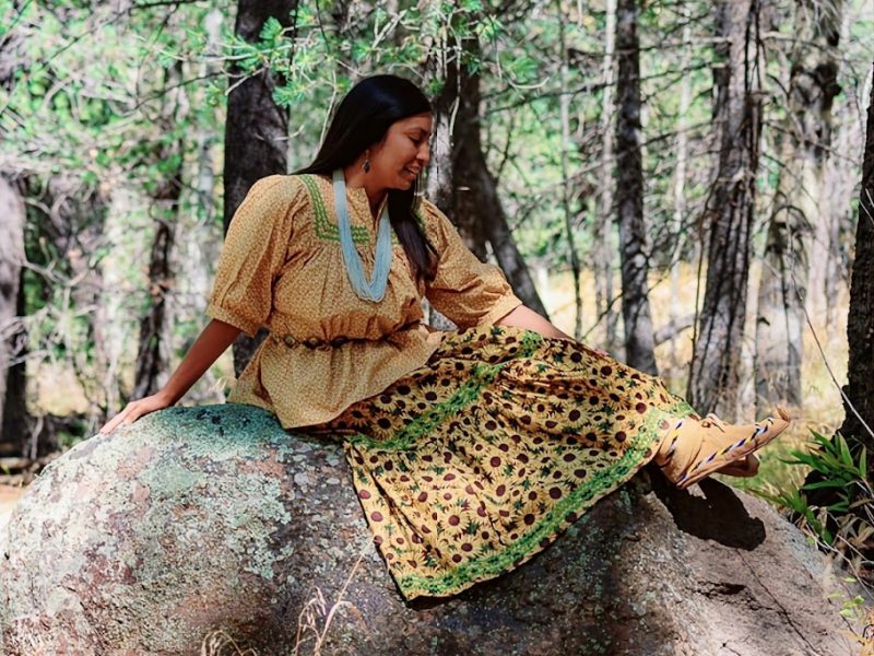
[[[637,0],[619,0],[616,13],[616,219],[622,257],[622,316],[625,360],[658,375],[649,309],[647,229],[643,222],[643,164],[640,155],[640,44]]]

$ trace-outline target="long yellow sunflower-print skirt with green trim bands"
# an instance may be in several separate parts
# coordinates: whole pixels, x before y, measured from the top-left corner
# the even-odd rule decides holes
[[[311,426],[343,440],[406,599],[454,595],[542,551],[694,414],[661,379],[568,340],[484,326]]]

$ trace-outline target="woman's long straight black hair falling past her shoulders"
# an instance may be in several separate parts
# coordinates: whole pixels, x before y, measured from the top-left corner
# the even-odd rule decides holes
[[[410,80],[390,74],[365,78],[340,102],[316,159],[309,166],[294,173],[330,177],[336,168],[349,166],[365,150],[381,141],[391,124],[426,112],[432,112],[428,98]],[[436,272],[432,255],[436,251],[413,213],[418,181],[416,178],[406,190],[389,189],[387,207],[391,226],[416,279],[432,281]]]

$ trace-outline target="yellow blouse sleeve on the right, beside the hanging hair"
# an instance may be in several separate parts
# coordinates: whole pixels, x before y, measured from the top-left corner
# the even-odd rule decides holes
[[[428,239],[437,250],[437,276],[425,296],[460,328],[489,325],[522,305],[495,265],[481,262],[437,206],[422,201]]]

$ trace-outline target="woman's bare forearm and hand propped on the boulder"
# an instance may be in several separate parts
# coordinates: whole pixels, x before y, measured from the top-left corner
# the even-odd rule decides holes
[[[101,429],[102,434],[113,432],[119,424],[129,424],[137,421],[143,414],[149,414],[155,410],[163,410],[176,403],[191,386],[198,382],[203,373],[210,368],[213,362],[225,352],[237,336],[240,329],[231,324],[212,319],[200,333],[197,341],[188,351],[179,366],[167,380],[161,391],[131,401],[125,409],[116,414]]]

